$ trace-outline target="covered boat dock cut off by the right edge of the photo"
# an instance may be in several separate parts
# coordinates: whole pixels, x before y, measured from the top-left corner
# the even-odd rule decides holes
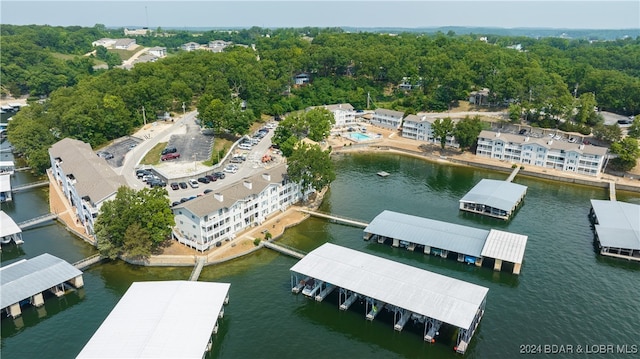
[[[600,254],[640,261],[640,205],[592,199],[590,216]]]

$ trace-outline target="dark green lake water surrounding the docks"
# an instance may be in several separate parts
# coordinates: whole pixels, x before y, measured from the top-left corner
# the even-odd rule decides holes
[[[370,221],[389,209],[529,236],[519,276],[365,242],[361,229],[322,219],[310,218],[280,239],[304,251],[331,242],[488,287],[486,312],[465,357],[513,358],[531,348],[523,345],[535,345],[534,350],[540,345],[541,351],[545,345],[571,345],[574,352],[587,346],[603,354],[589,357],[605,357],[612,354],[609,348],[638,345],[640,265],[597,255],[587,217],[589,200],[606,199],[606,189],[517,176],[515,183],[529,187],[525,203],[511,221],[503,222],[462,213],[458,200],[480,179],[505,179],[507,174],[394,154],[343,155],[336,166],[338,176],[322,211]],[[390,176],[381,178],[379,171]],[[17,180],[32,179],[17,174]],[[45,213],[46,200],[42,189],[17,193],[14,204],[3,209],[21,221]],[[640,195],[618,192],[618,200],[640,204]],[[60,225],[29,230],[23,238],[21,248],[2,252],[3,265],[44,252],[69,262],[95,252]],[[451,328],[443,328],[438,342],[428,344],[421,339],[422,327],[395,332],[384,313],[369,322],[357,304],[342,312],[335,298],[317,303],[292,295],[289,268],[295,263],[263,249],[204,268],[201,281],[231,283],[230,303],[208,357],[460,357],[453,351]],[[94,266],[85,272],[81,291],[46,301],[44,310],[26,309],[20,320],[3,318],[2,356],[73,358],[132,282],[186,280],[190,273],[191,268],[146,268],[121,261]]]

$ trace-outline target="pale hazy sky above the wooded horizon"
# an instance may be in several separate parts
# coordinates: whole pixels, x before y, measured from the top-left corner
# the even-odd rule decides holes
[[[1,0],[0,24],[164,28],[638,29],[640,0]]]

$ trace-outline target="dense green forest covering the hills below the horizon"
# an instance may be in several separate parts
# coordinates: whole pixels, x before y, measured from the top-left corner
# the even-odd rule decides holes
[[[161,30],[161,29],[158,29]],[[129,134],[147,113],[197,108],[223,130],[238,134],[262,114],[282,114],[313,105],[349,102],[405,113],[441,111],[489,88],[492,105],[524,114],[545,127],[558,119],[593,126],[593,108],[640,112],[640,38],[589,42],[454,33],[346,33],[341,29],[261,29],[179,32],[137,37],[139,44],[166,46],[169,57],[131,70],[94,72],[91,42],[122,37],[114,30],[48,26],[1,29],[3,88],[11,94],[45,95],[11,122],[9,139],[34,168],[48,165],[47,148],[64,137],[99,146]],[[160,31],[155,32],[160,33]],[[222,53],[183,52],[179,45],[222,39],[236,44]],[[521,50],[508,48],[520,45]],[[60,59],[54,53],[76,55]],[[295,86],[293,77],[311,82]],[[414,90],[400,90],[403,81]],[[233,103],[246,102],[243,123],[216,121]],[[582,110],[581,110],[582,109]],[[516,116],[516,120],[518,120]],[[212,125],[212,126],[213,126]],[[230,130],[226,128],[226,130]],[[37,139],[37,140],[36,140]]]

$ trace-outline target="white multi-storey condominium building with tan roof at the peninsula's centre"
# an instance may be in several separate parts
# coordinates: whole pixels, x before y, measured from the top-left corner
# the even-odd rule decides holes
[[[206,251],[233,240],[238,232],[261,224],[303,197],[282,164],[173,207],[173,235],[182,244]]]

